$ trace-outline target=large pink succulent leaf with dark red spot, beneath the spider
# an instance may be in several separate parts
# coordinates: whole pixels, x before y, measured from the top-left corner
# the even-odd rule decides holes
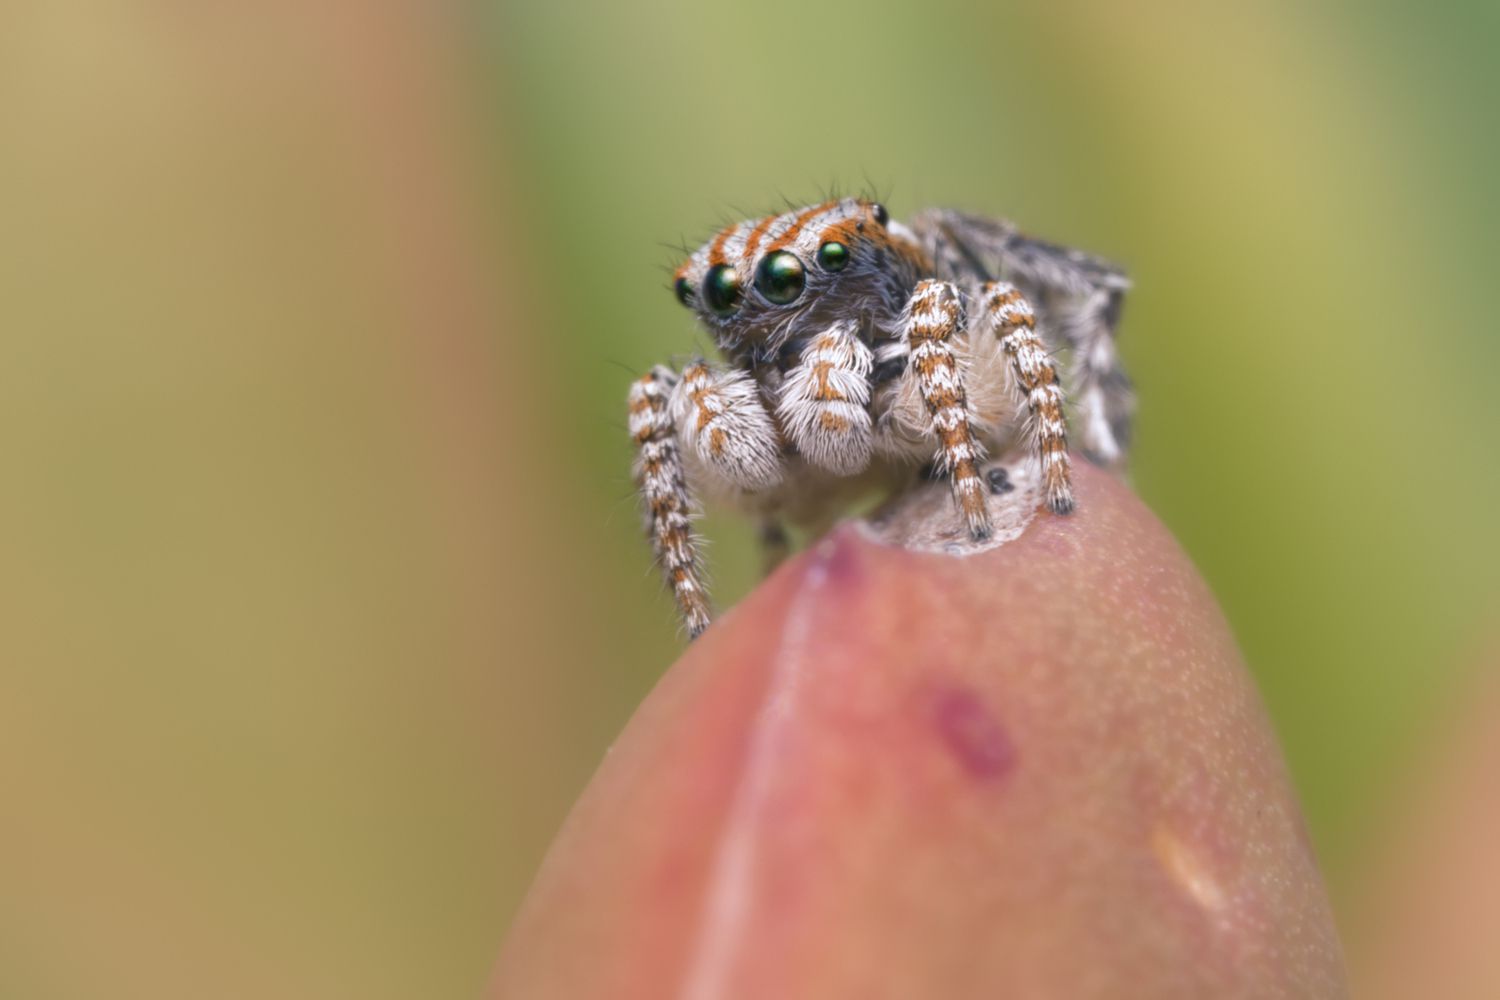
[[[568,819],[494,996],[1344,996],[1212,595],[1119,483],[1078,493],[970,556],[840,528],[717,622]]]

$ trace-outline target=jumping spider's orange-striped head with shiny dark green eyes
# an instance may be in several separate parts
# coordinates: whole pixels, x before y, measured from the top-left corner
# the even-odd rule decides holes
[[[676,270],[674,288],[720,346],[770,358],[849,318],[870,339],[892,333],[922,271],[921,250],[885,207],[843,198],[726,226]]]

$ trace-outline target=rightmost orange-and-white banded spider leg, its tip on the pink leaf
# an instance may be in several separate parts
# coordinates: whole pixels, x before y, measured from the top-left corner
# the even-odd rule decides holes
[[[1041,463],[1047,507],[1072,513],[1072,480],[1068,468],[1068,424],[1062,414],[1058,369],[1036,336],[1030,303],[1006,282],[988,282],[981,291],[981,316],[975,327],[993,331],[1011,360],[1016,388],[1026,400],[1030,418],[1028,438]]]

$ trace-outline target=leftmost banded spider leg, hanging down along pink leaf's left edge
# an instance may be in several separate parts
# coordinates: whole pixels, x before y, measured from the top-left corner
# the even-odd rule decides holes
[[[698,567],[692,495],[682,475],[670,396],[676,375],[657,366],[630,387],[630,436],[636,442],[636,486],[657,562],[690,637],[708,628],[711,610]]]

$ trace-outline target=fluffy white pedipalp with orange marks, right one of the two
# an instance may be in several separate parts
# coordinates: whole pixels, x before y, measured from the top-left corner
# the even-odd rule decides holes
[[[813,337],[782,381],[776,415],[813,465],[852,475],[870,465],[870,369],[874,357],[852,322]]]

